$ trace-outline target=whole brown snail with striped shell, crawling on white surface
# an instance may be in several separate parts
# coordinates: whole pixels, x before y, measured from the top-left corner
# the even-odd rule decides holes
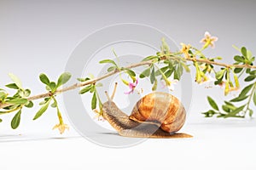
[[[111,97],[102,106],[103,118],[120,136],[134,138],[190,138],[186,133],[177,133],[183,127],[186,111],[172,94],[154,92],[137,101],[128,116],[113,102],[116,85]]]

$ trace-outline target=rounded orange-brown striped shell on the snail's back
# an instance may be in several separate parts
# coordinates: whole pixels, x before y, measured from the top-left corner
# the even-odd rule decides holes
[[[157,124],[168,133],[175,133],[185,122],[186,111],[172,94],[155,92],[137,102],[129,118],[136,122]]]

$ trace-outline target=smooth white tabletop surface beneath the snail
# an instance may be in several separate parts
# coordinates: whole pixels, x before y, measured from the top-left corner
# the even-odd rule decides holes
[[[38,139],[27,141],[26,134],[6,137],[14,140],[0,144],[1,169],[256,168],[255,120],[209,120],[205,124],[189,124],[182,131],[194,138],[147,139],[124,149],[104,148],[75,135],[40,139],[37,134]]]

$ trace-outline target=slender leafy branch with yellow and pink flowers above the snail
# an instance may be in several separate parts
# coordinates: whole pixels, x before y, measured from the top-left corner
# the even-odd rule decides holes
[[[129,91],[125,92],[124,95],[132,94],[134,90],[139,91],[137,84],[145,77],[149,78],[153,91],[157,90],[159,82],[165,84],[166,88],[172,91],[174,90],[175,83],[182,78],[183,72],[189,72],[191,67],[195,68],[196,83],[212,82],[215,86],[224,88],[224,95],[228,95],[232,91],[238,92],[235,98],[225,100],[221,107],[212,97],[207,96],[212,109],[202,114],[206,117],[217,116],[224,118],[253,116],[253,110],[255,110],[256,105],[256,66],[253,65],[255,57],[253,57],[253,54],[247,48],[236,48],[235,46],[239,54],[234,56],[233,64],[217,62],[216,60],[222,59],[221,57],[206,57],[203,51],[208,47],[214,48],[214,42],[217,40],[217,37],[212,37],[206,32],[205,37],[201,40],[203,45],[200,49],[190,44],[181,43],[180,50],[172,52],[165,39],[162,39],[160,51],[154,55],[145,57],[141,62],[122,66],[113,59],[104,59],[99,61],[99,63],[109,65],[108,72],[105,75],[102,77],[93,77],[90,75],[89,77],[78,78],[79,82],[65,88],[61,87],[71,78],[70,73],[62,73],[57,82],[49,81],[49,78],[42,73],[39,75],[39,80],[44,83],[47,92],[34,96],[30,96],[30,89],[22,87],[22,83],[18,77],[14,74],[9,74],[13,82],[7,84],[5,87],[15,89],[15,94],[10,95],[7,90],[0,88],[0,116],[15,112],[15,116],[11,121],[11,127],[15,129],[20,125],[21,111],[24,108],[32,108],[34,106],[33,100],[43,99],[39,103],[41,108],[35,114],[33,120],[37,120],[42,116],[50,105],[56,109],[59,119],[54,129],[58,128],[60,133],[64,133],[68,126],[63,122],[61,116],[61,109],[56,99],[58,94],[75,88],[81,88],[79,94],[92,94],[91,110],[96,112],[99,119],[102,119],[102,100],[97,92],[97,88],[102,87],[102,83],[100,82],[102,79],[119,74],[121,82],[129,88]],[[118,55],[114,51],[113,54],[118,60]],[[146,67],[145,70],[137,76],[132,69],[143,65]],[[128,75],[128,78],[123,78],[123,74]],[[241,81],[247,82],[244,88],[240,85]],[[143,90],[140,90],[140,93],[142,92]],[[2,121],[0,119],[0,122]]]

